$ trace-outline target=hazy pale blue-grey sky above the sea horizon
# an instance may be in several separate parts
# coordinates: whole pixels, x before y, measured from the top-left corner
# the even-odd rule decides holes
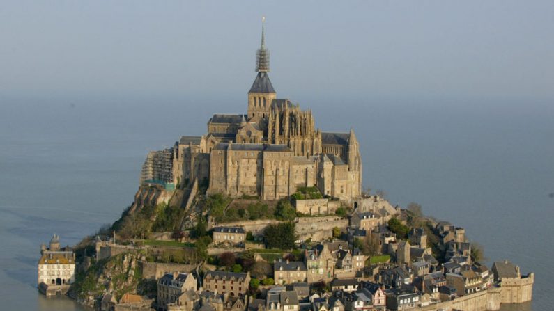
[[[554,99],[554,1],[0,2],[0,95]],[[1,104],[1,103],[0,103]]]

